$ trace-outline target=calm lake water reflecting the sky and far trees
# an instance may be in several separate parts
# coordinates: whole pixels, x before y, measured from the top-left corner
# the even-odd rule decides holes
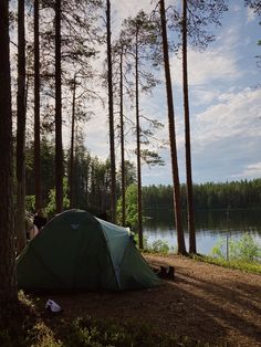
[[[144,224],[144,235],[149,244],[156,240],[163,240],[169,246],[177,245],[177,233],[174,228],[174,217],[170,210],[146,210],[148,219]],[[217,241],[238,240],[249,232],[261,246],[261,210],[215,210],[196,213],[197,251],[201,254],[210,254]],[[188,246],[188,231],[186,215],[184,215],[186,244]]]

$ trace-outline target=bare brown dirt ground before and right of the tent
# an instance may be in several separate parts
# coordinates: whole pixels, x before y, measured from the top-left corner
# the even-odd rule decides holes
[[[190,259],[146,255],[175,266],[175,280],[125,293],[53,295],[64,318],[137,319],[213,345],[261,346],[261,276]]]

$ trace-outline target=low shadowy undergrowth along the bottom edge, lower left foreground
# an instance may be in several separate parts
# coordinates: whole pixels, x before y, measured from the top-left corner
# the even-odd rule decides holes
[[[0,328],[0,346],[4,347],[196,347],[210,346],[186,336],[166,334],[154,326],[134,322],[94,319],[81,316],[73,320],[63,314],[52,316],[38,312],[38,305],[22,292],[19,294],[19,317],[13,316],[6,327]],[[39,304],[39,303],[38,303]]]

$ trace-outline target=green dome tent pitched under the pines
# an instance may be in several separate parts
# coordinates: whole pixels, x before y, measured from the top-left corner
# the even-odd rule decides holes
[[[53,218],[17,259],[23,290],[147,288],[159,285],[126,229],[82,210]]]

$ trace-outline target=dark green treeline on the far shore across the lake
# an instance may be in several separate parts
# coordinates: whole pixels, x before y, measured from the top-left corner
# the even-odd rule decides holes
[[[186,209],[186,185],[180,186],[181,206]],[[143,188],[144,209],[173,209],[171,186]],[[261,207],[261,179],[194,185],[195,210],[247,209]]]

